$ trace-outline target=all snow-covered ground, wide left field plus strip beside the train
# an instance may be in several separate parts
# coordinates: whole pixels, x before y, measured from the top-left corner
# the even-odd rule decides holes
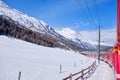
[[[62,80],[90,66],[95,59],[73,51],[48,48],[0,36],[0,80]],[[76,67],[74,64],[76,63]],[[62,73],[60,72],[62,65]],[[88,80],[114,80],[111,68],[102,63]]]

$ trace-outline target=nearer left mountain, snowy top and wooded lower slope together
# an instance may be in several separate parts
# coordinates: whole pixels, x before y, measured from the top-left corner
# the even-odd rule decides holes
[[[17,38],[18,38],[18,36],[20,37],[20,39],[23,39],[23,40],[26,40],[26,38],[27,38],[27,41],[29,41],[29,42],[32,42],[32,43],[35,42],[37,44],[45,43],[44,45],[46,45],[46,42],[47,42],[50,44],[49,46],[51,46],[51,45],[54,47],[59,46],[60,48],[66,47],[65,49],[73,49],[73,48],[76,48],[77,50],[80,49],[80,47],[76,46],[73,41],[58,34],[52,27],[47,25],[44,21],[37,20],[33,17],[30,17],[30,16],[16,10],[16,9],[10,8],[8,5],[6,5],[1,0],[0,0],[0,18],[1,18],[1,25],[2,25],[2,26],[0,25],[1,31],[3,32],[0,34],[6,35],[6,32],[4,33],[4,31],[7,30],[7,35],[11,36],[11,34],[15,33],[15,30],[8,32],[8,28],[13,27],[11,25],[14,25],[14,27],[17,26],[19,28],[22,28],[21,31],[23,31],[24,29],[27,29],[27,31],[32,30],[34,32],[40,33],[40,34],[33,33],[32,35],[27,35],[27,37],[34,36],[34,37],[32,37],[32,39],[35,37],[38,38],[37,37],[38,35],[40,37],[42,35],[42,38],[39,38],[39,40],[36,39],[38,42],[36,42],[36,40],[28,40],[28,38],[26,36],[24,37],[24,39],[21,38],[21,33],[18,33],[20,35],[14,35],[15,37],[17,36]],[[5,21],[7,22],[7,24],[9,24],[9,26],[6,24]],[[5,22],[5,23],[3,24],[3,22]],[[2,29],[2,28],[6,28],[5,24],[8,26],[8,28]],[[24,31],[24,33],[26,33],[26,32]],[[29,33],[29,31],[28,31],[28,33]],[[30,33],[31,33],[31,31],[30,31]],[[23,35],[25,35],[25,34],[23,34]],[[13,35],[12,35],[12,37],[13,37]],[[40,40],[42,42],[40,42]],[[76,50],[76,49],[73,49],[73,50]]]

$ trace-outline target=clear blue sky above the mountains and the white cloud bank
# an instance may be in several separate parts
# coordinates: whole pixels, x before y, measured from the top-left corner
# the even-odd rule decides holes
[[[116,28],[116,0],[96,0],[100,20],[93,2],[95,0],[86,0],[92,16],[89,14],[84,0],[3,1],[11,8],[43,20],[55,29],[69,27],[77,31],[92,31],[97,30],[99,24],[102,29]]]

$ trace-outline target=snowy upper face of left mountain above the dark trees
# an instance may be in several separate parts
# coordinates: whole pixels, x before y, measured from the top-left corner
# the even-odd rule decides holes
[[[25,26],[33,31],[56,34],[55,31],[44,21],[37,20],[16,9],[12,9],[1,0],[0,0],[0,15],[8,16],[12,20],[18,22],[20,25]]]

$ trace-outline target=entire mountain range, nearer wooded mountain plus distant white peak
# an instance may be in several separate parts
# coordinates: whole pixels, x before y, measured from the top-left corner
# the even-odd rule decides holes
[[[13,25],[14,28],[11,25]],[[17,30],[19,33],[15,32],[16,26],[22,28],[22,30]],[[9,29],[10,27],[12,27],[11,30]],[[40,44],[40,45],[42,44],[44,46],[49,46],[49,47],[51,46],[60,47],[69,50],[72,49],[75,51],[76,50],[79,51],[81,49],[92,49],[92,50],[96,49],[96,46],[93,45],[95,43],[83,37],[80,33],[70,30],[68,28],[62,29],[57,33],[52,27],[50,27],[44,21],[35,19],[16,9],[10,8],[1,0],[0,0],[0,30],[1,30],[0,34],[9,35],[15,38],[20,38],[35,44]],[[38,32],[39,34],[33,32],[31,33],[31,31],[28,30]],[[23,32],[20,33],[21,31]],[[30,35],[28,34],[26,35],[26,33],[30,33]],[[17,35],[13,35],[13,34],[17,34]]]

